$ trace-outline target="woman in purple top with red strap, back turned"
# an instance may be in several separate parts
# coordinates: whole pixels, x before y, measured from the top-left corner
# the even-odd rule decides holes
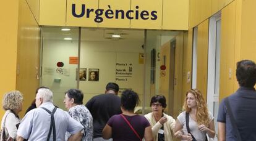
[[[113,141],[134,141],[144,138],[146,141],[153,141],[152,130],[148,120],[144,116],[134,113],[134,108],[138,105],[139,101],[139,96],[134,91],[126,90],[122,93],[122,114],[114,115],[108,120],[108,123],[103,129],[104,139],[113,138]]]

